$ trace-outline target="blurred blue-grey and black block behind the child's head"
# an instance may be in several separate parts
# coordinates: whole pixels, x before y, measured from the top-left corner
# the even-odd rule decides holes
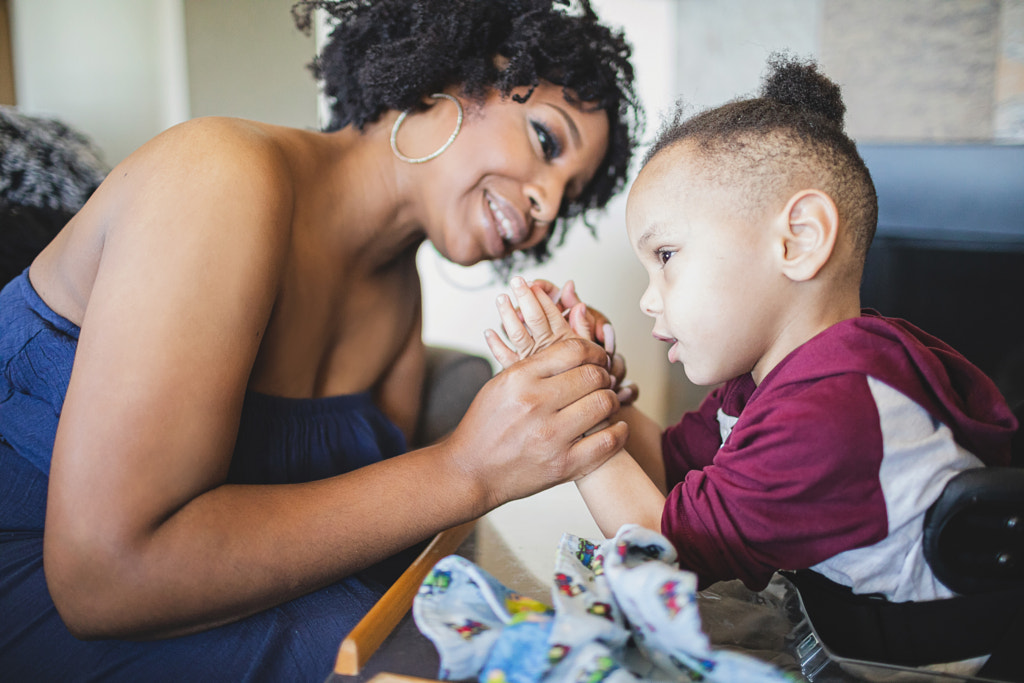
[[[966,355],[1021,419],[1024,145],[859,150],[879,195],[862,304],[910,321]],[[1018,431],[1015,457],[1022,441]]]

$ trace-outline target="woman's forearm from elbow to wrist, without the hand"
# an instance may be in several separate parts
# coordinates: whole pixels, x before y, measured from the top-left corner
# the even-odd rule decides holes
[[[314,591],[486,509],[438,444],[309,483],[218,486],[130,540],[47,529],[44,557],[76,636],[163,638]]]

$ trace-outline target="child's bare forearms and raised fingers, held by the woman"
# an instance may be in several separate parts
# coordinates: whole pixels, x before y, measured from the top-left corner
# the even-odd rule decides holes
[[[543,288],[530,288],[521,278],[515,278],[512,290],[519,304],[521,319],[511,300],[505,295],[499,297],[498,311],[514,350],[495,331],[487,330],[484,333],[487,346],[503,368],[508,368],[516,360],[560,339],[575,336],[593,338],[586,305],[582,302],[568,309],[566,321]],[[641,426],[639,434],[631,433],[631,441],[640,445],[653,437],[659,453],[660,431],[656,429],[654,422],[636,409],[624,410],[634,413],[629,416],[632,418],[631,426],[633,422]],[[664,466],[658,463],[652,469],[660,472],[659,477],[664,481]],[[626,451],[618,452],[604,465],[578,479],[577,486],[601,532],[606,537],[614,536],[623,524],[630,522],[660,531],[665,495]]]

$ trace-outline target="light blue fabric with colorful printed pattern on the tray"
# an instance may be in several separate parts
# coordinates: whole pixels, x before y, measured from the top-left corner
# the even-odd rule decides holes
[[[601,544],[566,533],[549,607],[452,555],[423,582],[413,614],[437,647],[445,680],[790,680],[759,659],[711,647],[696,575],[675,561],[672,544],[640,526]]]

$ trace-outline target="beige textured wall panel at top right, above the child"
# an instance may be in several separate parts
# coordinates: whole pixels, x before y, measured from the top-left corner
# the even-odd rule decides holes
[[[998,0],[824,2],[821,60],[860,141],[989,140]]]

